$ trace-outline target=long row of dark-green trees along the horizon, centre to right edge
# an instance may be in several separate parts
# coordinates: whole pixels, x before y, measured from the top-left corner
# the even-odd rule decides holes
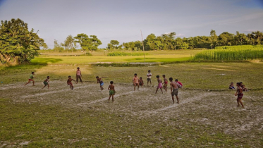
[[[256,31],[245,35],[244,33],[236,32],[236,35],[223,32],[219,36],[215,30],[211,30],[209,36],[196,37],[176,37],[176,32],[156,36],[150,34],[143,41],[145,50],[169,50],[169,49],[214,49],[220,46],[233,45],[261,45],[263,44],[263,33]],[[116,40],[111,40],[107,49],[120,50],[142,50],[142,42],[124,42],[119,45]]]

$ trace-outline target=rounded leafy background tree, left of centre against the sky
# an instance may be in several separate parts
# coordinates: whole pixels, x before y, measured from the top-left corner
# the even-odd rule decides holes
[[[90,35],[90,37],[84,33],[78,34],[74,39],[77,39],[75,42],[80,44],[80,47],[84,51],[97,50],[99,45],[102,42],[97,38],[96,35]]]

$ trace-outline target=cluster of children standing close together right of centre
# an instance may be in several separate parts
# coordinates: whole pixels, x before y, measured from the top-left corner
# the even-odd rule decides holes
[[[164,93],[162,88],[164,88],[164,90],[167,92],[168,80],[166,78],[166,75],[162,75],[162,77],[164,78],[164,82],[161,81],[159,75],[156,76],[158,85],[157,85],[157,90],[156,90],[155,94],[157,94],[157,91],[159,89],[161,90],[161,93]],[[152,85],[151,79],[152,79],[152,73],[151,73],[151,70],[148,70],[147,86],[149,85],[149,83],[150,83],[150,85]],[[174,103],[174,95],[176,96],[177,103],[179,103],[178,88],[182,88],[183,84],[181,82],[179,82],[177,79],[173,82],[173,78],[169,78],[169,81],[170,81],[170,86],[171,86],[171,96],[172,96],[173,103]],[[136,90],[136,86],[137,86],[137,90],[139,90],[139,87],[144,85],[142,77],[140,77],[140,79],[139,79],[137,77],[137,73],[134,74],[133,85],[134,85],[134,90]]]

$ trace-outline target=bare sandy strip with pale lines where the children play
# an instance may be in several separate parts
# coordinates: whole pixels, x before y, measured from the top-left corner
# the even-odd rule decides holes
[[[116,84],[114,103],[108,103],[108,85],[104,85],[104,91],[100,91],[99,85],[92,82],[73,84],[74,91],[66,85],[66,82],[51,81],[50,89],[41,90],[42,83],[37,82],[23,86],[22,83],[1,85],[0,97],[13,99],[14,102],[38,102],[39,104],[60,104],[68,109],[94,109],[118,113],[126,118],[126,115],[135,118],[151,118],[157,116],[161,122],[174,124],[169,118],[189,121],[190,123],[212,125],[229,135],[237,137],[253,137],[255,132],[261,132],[263,128],[262,100],[252,97],[252,92],[245,92],[243,102],[245,109],[236,107],[235,92],[207,92],[179,90],[180,104],[172,104],[171,94],[159,90],[155,93],[155,87],[140,87],[139,91],[133,91],[133,85]],[[254,103],[253,103],[254,102]],[[259,104],[255,103],[259,102]]]

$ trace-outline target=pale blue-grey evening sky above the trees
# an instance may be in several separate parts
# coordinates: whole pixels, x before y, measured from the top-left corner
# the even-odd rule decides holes
[[[112,40],[141,40],[176,32],[176,37],[263,31],[263,0],[0,0],[0,20],[20,18],[44,39],[97,35],[104,48]]]

